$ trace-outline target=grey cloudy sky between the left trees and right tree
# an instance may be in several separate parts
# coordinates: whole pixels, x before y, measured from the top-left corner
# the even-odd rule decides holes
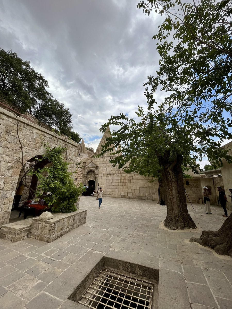
[[[159,56],[160,17],[137,0],[0,0],[0,47],[49,80],[73,114],[75,131],[96,149],[111,115],[134,116]]]

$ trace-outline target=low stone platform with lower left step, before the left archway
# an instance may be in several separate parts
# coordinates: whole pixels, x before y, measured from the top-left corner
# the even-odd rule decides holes
[[[50,243],[84,224],[86,212],[86,210],[77,210],[70,214],[53,214],[53,218],[46,221],[35,217],[4,224],[0,229],[0,238],[15,243],[31,237]]]

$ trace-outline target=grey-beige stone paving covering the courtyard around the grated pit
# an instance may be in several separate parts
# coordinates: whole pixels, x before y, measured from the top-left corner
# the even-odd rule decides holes
[[[177,273],[184,276],[190,303],[186,309],[231,309],[232,258],[188,242],[203,229],[220,228],[223,211],[211,206],[213,214],[205,214],[203,205],[193,207],[195,211],[188,204],[196,231],[168,231],[161,224],[165,206],[154,201],[103,198],[98,209],[94,197],[81,197],[86,223],[54,242],[0,239],[0,307],[62,309],[63,300],[49,294],[49,285],[88,251],[117,250],[159,258],[160,269],[171,270],[173,278]],[[170,282],[171,277],[167,286]]]

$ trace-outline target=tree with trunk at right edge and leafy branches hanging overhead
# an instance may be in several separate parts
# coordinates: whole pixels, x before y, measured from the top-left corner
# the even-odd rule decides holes
[[[154,10],[165,18],[153,37],[158,40],[161,60],[157,76],[148,77],[145,85],[149,108],[156,104],[153,94],[157,90],[165,91],[161,108],[177,109],[178,121],[186,129],[191,128],[196,143],[194,150],[200,159],[202,147],[213,168],[222,166],[220,158],[230,163],[226,151],[223,154],[215,146],[231,138],[232,2],[149,0],[141,1],[137,7],[148,15]],[[189,122],[189,115],[194,117],[197,126]],[[213,147],[207,147],[213,140]],[[232,256],[232,214],[220,230],[203,231],[200,239],[192,241]]]

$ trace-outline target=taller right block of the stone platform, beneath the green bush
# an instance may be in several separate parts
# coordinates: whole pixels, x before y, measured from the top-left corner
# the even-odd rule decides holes
[[[40,217],[33,218],[30,237],[51,243],[86,223],[86,212],[86,210],[77,210],[70,214],[53,214],[53,218],[49,220],[41,220]]]

